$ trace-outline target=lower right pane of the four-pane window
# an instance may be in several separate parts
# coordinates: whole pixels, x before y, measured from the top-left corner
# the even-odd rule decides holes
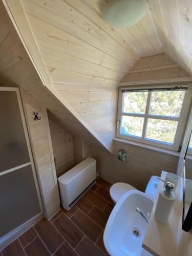
[[[149,118],[145,138],[173,144],[177,124],[178,121]]]

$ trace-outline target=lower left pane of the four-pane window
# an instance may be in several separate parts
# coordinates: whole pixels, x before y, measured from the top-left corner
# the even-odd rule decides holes
[[[142,136],[143,117],[122,116],[121,134]]]

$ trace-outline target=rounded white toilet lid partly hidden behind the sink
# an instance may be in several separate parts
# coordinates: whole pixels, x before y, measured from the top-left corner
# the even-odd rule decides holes
[[[123,183],[123,182],[118,182],[115,183],[111,186],[110,188],[110,196],[111,198],[115,201],[118,202],[119,199],[129,190],[133,190],[136,189],[135,187],[127,184],[127,183]]]

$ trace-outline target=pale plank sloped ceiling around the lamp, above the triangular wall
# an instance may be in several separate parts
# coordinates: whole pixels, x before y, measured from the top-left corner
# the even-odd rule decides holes
[[[136,61],[162,52],[150,14],[115,30],[100,14],[105,0],[22,0],[53,83],[117,85]]]

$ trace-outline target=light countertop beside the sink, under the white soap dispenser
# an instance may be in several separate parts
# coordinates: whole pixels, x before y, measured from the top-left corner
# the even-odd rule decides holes
[[[166,172],[162,172],[161,179],[165,180]],[[181,178],[178,182],[176,188],[176,200],[174,202],[172,211],[168,222],[161,224],[156,221],[154,214],[157,203],[157,198],[154,202],[154,207],[152,210],[150,222],[148,223],[148,228],[143,240],[142,247],[149,251],[150,253],[158,256],[176,256],[177,247],[179,240],[179,233],[182,223],[182,200],[181,200]],[[159,189],[164,186],[164,183],[160,181],[158,186]]]

